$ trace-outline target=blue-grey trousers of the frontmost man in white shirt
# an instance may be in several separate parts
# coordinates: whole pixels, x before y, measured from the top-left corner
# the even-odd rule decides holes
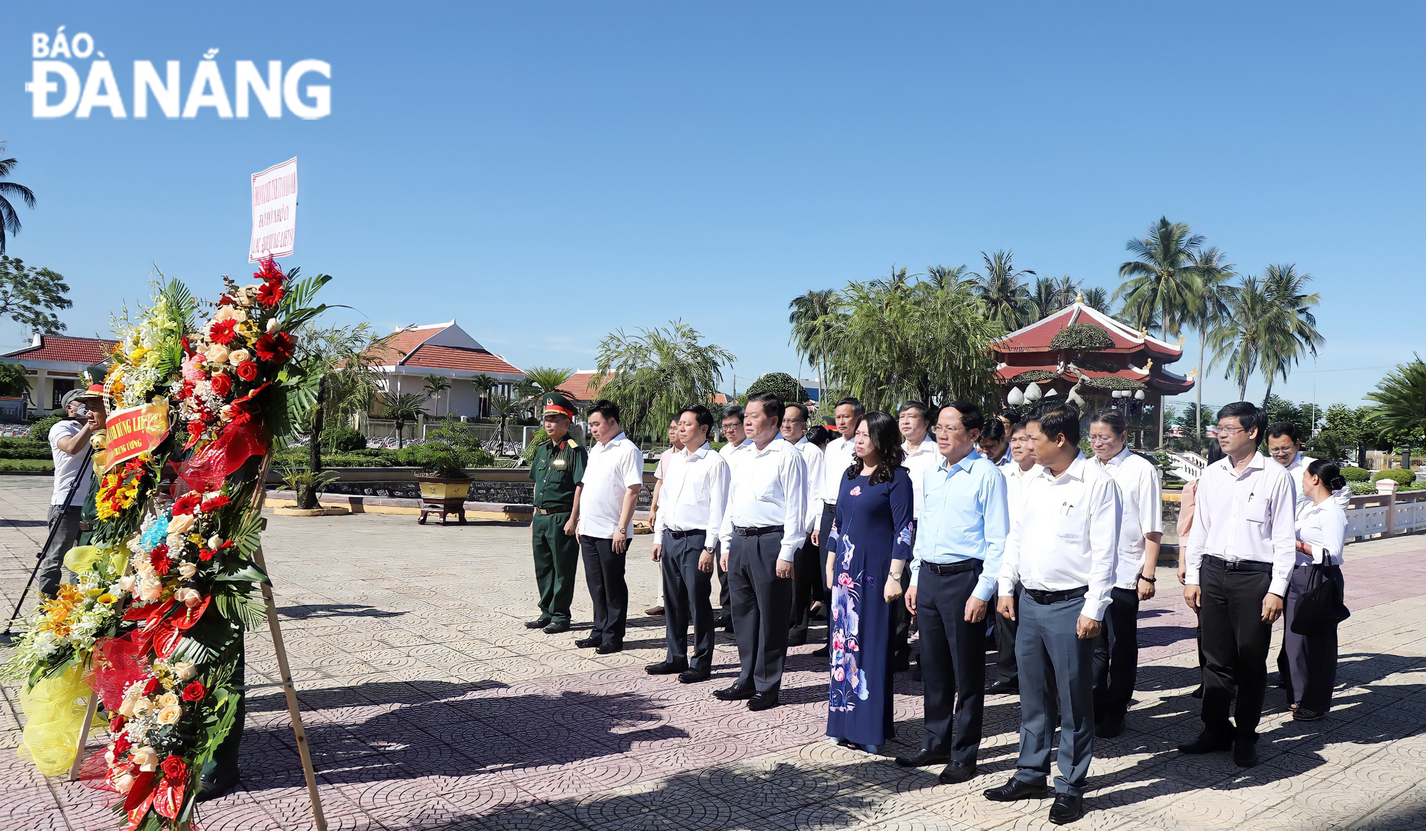
[[[1020,760],[1015,778],[1050,775],[1050,744],[1060,711],[1060,775],[1055,791],[1084,795],[1094,755],[1094,639],[1075,634],[1084,597],[1048,606],[1020,599],[1015,661],[1020,664]]]

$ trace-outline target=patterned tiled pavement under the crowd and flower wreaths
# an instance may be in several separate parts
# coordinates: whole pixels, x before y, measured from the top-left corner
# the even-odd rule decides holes
[[[0,596],[6,609],[43,540],[43,478],[0,479]],[[819,661],[793,650],[784,706],[752,714],[710,693],[734,671],[720,636],[714,681],[682,686],[643,664],[662,656],[649,537],[629,556],[627,650],[597,657],[575,634],[530,634],[528,530],[418,526],[415,517],[274,517],[265,536],[282,629],[305,708],[331,828],[717,830],[1040,828],[1048,801],[994,804],[980,791],[1012,768],[1017,701],[987,700],[981,775],[940,785],[935,770],[823,737]],[[1298,724],[1281,696],[1262,730],[1263,763],[1184,758],[1196,733],[1192,617],[1172,572],[1147,604],[1129,730],[1099,743],[1091,828],[1426,827],[1426,537],[1355,544],[1352,619],[1332,714]],[[589,620],[583,587],[576,620]],[[1276,649],[1276,647],[1275,647]],[[254,684],[242,790],[202,807],[205,831],[311,828],[275,661],[248,636]],[[904,677],[901,677],[904,678]],[[920,733],[920,684],[903,680],[900,737]],[[0,828],[114,828],[107,794],[44,780],[17,760],[13,690],[0,708]],[[98,738],[91,750],[101,747]]]

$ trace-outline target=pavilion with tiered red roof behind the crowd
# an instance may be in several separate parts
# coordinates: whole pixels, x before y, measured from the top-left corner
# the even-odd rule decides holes
[[[1166,369],[1184,356],[1178,344],[1121,324],[1084,298],[994,341],[991,351],[1007,403],[1058,395],[1087,416],[1114,406],[1152,406],[1162,415],[1164,398],[1194,388],[1192,373]]]

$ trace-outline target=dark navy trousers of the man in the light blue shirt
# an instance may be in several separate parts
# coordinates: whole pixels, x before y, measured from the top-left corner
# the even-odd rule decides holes
[[[980,573],[980,563],[958,574],[935,574],[923,564],[915,580],[925,700],[921,748],[950,751],[963,764],[975,764],[985,708],[985,621],[965,621],[965,602]]]

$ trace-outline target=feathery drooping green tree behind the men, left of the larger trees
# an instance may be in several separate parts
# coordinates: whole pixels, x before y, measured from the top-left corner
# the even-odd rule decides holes
[[[637,332],[619,329],[599,342],[599,375],[613,373],[599,395],[619,405],[626,432],[663,438],[680,409],[710,401],[722,368],[734,358],[717,344],[704,344],[683,321]]]

